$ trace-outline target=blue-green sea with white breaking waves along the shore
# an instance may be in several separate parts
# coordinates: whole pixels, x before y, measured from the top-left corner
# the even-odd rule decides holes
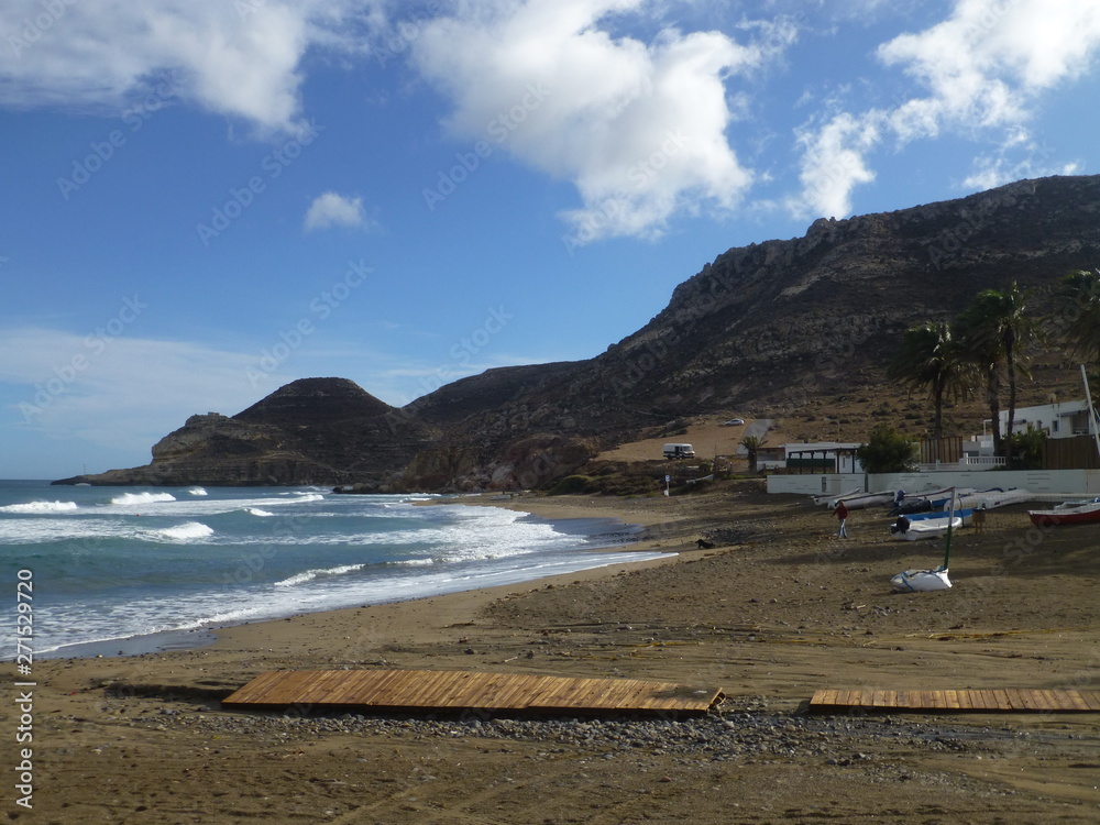
[[[640,531],[607,519],[551,522],[498,507],[416,504],[428,498],[0,481],[0,570],[12,610],[16,581],[31,578],[35,657],[66,656],[90,642],[114,652],[116,641],[133,637],[622,563],[615,548]],[[6,658],[15,653],[13,628],[0,638]]]

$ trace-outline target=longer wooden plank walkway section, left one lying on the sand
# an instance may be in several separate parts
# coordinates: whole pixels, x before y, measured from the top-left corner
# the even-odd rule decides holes
[[[698,715],[722,698],[717,690],[635,679],[433,670],[271,670],[221,704],[242,710],[296,706]]]

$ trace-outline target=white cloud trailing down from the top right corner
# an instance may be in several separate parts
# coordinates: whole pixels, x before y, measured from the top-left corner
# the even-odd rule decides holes
[[[1032,110],[1043,92],[1088,72],[1098,48],[1094,0],[957,0],[942,22],[877,50],[884,66],[915,80],[923,95],[800,131],[803,193],[792,201],[795,211],[847,213],[851,189],[873,179],[868,154],[888,138],[898,144],[944,133],[991,139],[1000,155],[979,158],[967,186],[1005,183],[1024,170],[1050,174],[1027,132]],[[1026,156],[1009,161],[1012,152]]]

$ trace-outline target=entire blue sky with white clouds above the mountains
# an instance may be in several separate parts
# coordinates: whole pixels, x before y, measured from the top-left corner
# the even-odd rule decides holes
[[[1100,0],[6,0],[0,477],[595,356],[733,246],[1098,172]]]

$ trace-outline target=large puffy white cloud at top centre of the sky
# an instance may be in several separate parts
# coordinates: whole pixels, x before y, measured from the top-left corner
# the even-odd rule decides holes
[[[758,69],[793,38],[757,44],[667,29],[651,43],[613,36],[644,0],[461,3],[414,44],[420,72],[453,102],[465,140],[572,182],[571,238],[660,234],[678,212],[733,208],[752,176],[729,145],[730,75]]]

